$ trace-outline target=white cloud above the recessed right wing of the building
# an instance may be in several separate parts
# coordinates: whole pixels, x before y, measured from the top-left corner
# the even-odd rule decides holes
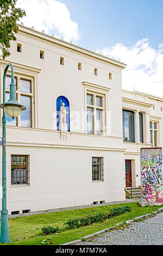
[[[163,44],[154,49],[148,38],[136,42],[132,47],[118,43],[110,48],[98,50],[127,64],[122,71],[122,88],[163,96]]]

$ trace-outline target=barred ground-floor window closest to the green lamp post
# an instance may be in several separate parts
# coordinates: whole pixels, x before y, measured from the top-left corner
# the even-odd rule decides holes
[[[29,155],[11,155],[11,185],[29,185]]]

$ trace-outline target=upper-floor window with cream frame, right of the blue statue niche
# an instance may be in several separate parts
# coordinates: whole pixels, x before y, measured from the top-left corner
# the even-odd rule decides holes
[[[97,94],[86,95],[87,98],[87,133],[102,135],[104,97]]]

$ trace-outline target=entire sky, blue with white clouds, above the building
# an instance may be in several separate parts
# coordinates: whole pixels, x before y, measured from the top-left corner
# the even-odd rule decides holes
[[[123,89],[163,97],[163,0],[17,0],[17,5],[26,10],[24,26],[126,63]]]

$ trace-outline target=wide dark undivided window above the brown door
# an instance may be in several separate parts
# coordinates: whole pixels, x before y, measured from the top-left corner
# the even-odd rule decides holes
[[[134,112],[123,109],[124,142],[135,142]]]

